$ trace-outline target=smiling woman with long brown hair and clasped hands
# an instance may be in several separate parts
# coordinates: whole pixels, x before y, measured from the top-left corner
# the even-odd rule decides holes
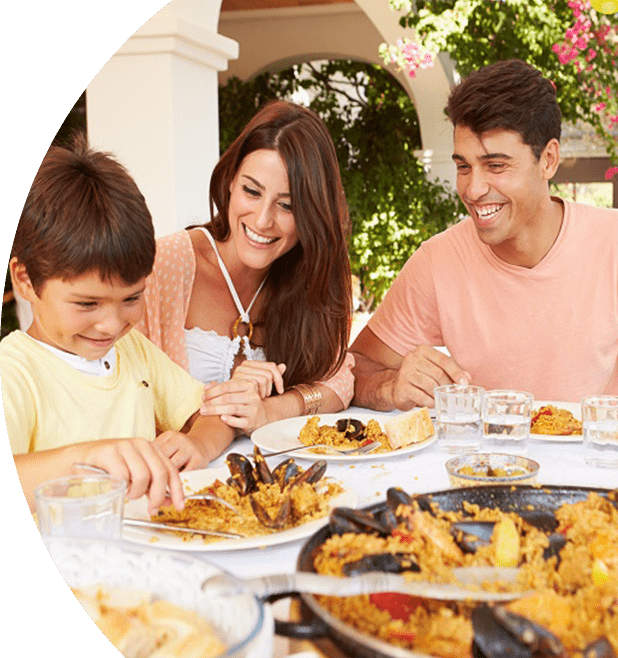
[[[324,123],[264,107],[217,163],[210,210],[159,239],[138,328],[206,384],[202,413],[239,433],[347,407],[349,217]]]

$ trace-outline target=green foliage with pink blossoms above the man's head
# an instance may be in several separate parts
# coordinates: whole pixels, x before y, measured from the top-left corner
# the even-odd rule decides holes
[[[589,0],[389,0],[423,51],[447,52],[466,76],[516,57],[552,80],[565,121],[594,126],[618,161],[618,31]],[[413,30],[413,31],[412,31]],[[402,45],[383,47],[406,68]],[[409,66],[407,68],[410,68]],[[414,74],[414,67],[411,69]]]

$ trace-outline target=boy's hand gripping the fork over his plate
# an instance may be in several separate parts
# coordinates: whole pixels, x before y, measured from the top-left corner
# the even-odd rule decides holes
[[[102,439],[84,444],[81,461],[105,469],[112,477],[126,480],[127,498],[148,496],[148,511],[154,514],[167,498],[184,508],[184,493],[178,469],[153,441]]]

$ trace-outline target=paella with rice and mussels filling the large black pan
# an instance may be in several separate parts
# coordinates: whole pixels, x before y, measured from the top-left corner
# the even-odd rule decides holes
[[[383,570],[455,582],[454,567],[511,565],[519,567],[516,585],[486,587],[534,593],[495,606],[388,592],[316,600],[361,633],[441,658],[615,656],[617,499],[591,492],[549,514],[464,501],[454,512],[390,489],[379,511],[333,510],[330,537],[312,553],[318,573]]]

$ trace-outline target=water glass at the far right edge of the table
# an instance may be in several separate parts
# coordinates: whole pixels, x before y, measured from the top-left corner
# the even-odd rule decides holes
[[[582,400],[584,459],[589,466],[618,468],[618,396]]]

